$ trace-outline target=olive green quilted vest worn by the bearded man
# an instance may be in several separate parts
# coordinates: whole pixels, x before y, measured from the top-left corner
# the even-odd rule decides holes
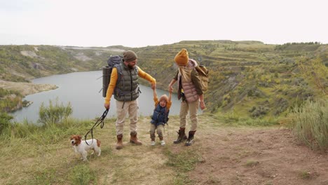
[[[118,69],[118,68],[121,69]],[[129,69],[123,62],[117,67],[118,79],[114,90],[115,100],[130,102],[139,97],[139,83],[137,66]]]

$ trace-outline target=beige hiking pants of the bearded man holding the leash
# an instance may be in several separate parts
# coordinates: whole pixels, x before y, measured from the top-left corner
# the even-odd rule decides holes
[[[123,103],[124,102],[116,100],[116,135],[123,134],[123,128],[127,114],[129,115],[130,119],[130,132],[137,132],[138,102],[137,100],[125,102],[124,107]]]

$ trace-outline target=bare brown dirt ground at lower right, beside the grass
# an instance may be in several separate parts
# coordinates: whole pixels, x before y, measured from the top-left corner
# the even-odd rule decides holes
[[[310,150],[285,128],[208,124],[191,147],[203,158],[189,173],[196,184],[328,184],[328,153]]]

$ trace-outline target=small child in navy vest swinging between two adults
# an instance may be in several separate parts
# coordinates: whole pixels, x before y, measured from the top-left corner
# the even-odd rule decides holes
[[[153,89],[153,102],[155,102],[155,109],[153,110],[153,116],[151,116],[151,125],[149,130],[151,146],[155,145],[155,130],[157,131],[158,137],[160,139],[160,145],[165,145],[163,139],[163,130],[165,123],[168,121],[168,114],[172,104],[171,96],[172,90],[170,91],[169,97],[167,95],[163,95],[158,100],[156,89]]]

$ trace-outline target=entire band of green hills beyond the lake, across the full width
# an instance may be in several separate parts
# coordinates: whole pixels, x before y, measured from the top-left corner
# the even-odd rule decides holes
[[[0,46],[0,79],[31,78],[101,69],[109,55],[132,49],[138,65],[167,89],[181,50],[210,70],[207,112],[234,117],[278,118],[310,97],[327,97],[328,47],[320,43],[269,45],[259,41],[181,41],[163,46],[78,48]]]

